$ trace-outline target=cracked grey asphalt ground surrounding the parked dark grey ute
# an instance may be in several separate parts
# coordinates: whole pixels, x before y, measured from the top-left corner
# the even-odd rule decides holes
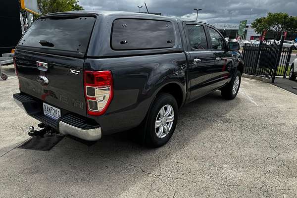
[[[243,78],[234,100],[198,99],[161,148],[125,132],[90,147],[65,138],[47,152],[16,148],[38,122],[13,102],[13,67],[3,71],[0,198],[297,197],[297,95],[281,88]]]

